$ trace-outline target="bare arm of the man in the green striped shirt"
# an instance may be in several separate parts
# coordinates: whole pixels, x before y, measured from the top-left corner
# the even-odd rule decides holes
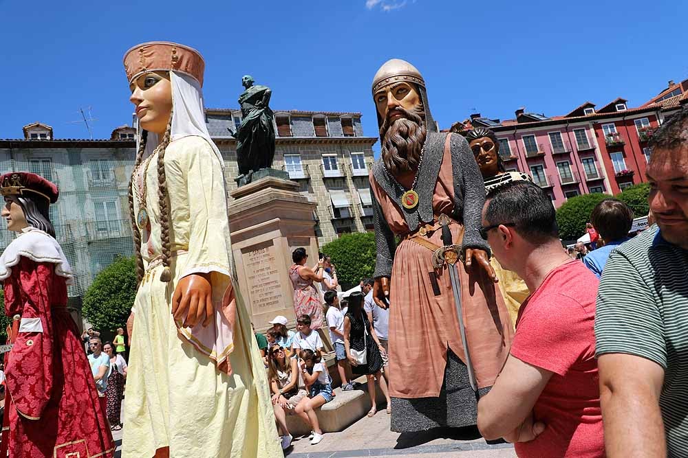
[[[609,353],[597,360],[607,456],[666,457],[659,397],[664,369],[630,354]]]

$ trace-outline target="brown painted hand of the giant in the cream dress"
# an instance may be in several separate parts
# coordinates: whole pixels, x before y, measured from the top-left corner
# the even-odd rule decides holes
[[[183,320],[184,328],[203,323],[205,328],[213,318],[213,286],[209,273],[193,273],[180,279],[172,296],[172,315]]]

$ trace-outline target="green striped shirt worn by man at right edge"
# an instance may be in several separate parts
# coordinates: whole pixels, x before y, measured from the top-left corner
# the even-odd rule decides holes
[[[597,293],[596,356],[641,356],[664,368],[659,404],[669,457],[688,456],[688,251],[655,225],[610,255]]]

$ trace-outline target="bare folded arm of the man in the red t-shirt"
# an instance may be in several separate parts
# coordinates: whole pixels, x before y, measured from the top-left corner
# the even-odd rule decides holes
[[[482,436],[487,440],[512,437],[528,420],[552,374],[509,355],[495,385],[477,404],[477,427]]]

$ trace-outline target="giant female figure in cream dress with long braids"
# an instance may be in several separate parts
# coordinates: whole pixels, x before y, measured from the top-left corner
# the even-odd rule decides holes
[[[129,189],[140,284],[122,457],[280,456],[264,366],[230,273],[203,58],[143,43],[127,51],[125,69],[141,127]]]

